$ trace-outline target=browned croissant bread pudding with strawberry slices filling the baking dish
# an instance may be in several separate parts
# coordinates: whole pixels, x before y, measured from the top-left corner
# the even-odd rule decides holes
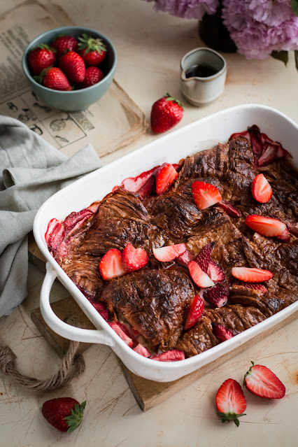
[[[183,360],[298,297],[298,173],[257,126],[49,222],[66,274],[128,346]]]

